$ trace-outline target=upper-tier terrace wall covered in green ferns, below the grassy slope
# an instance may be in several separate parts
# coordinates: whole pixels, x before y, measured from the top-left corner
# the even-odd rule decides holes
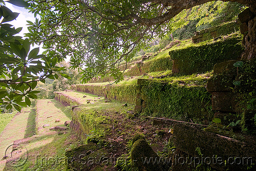
[[[240,59],[244,51],[242,36],[233,34],[225,39],[169,52],[173,73],[192,74],[210,71],[216,63]]]

